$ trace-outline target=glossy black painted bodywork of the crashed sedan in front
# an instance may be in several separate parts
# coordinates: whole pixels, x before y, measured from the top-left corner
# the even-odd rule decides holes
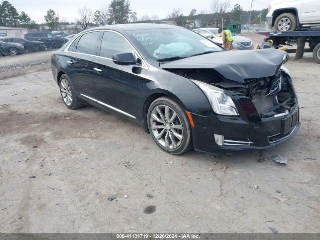
[[[148,27],[150,26],[148,25]],[[156,27],[171,28],[171,26],[164,25],[157,25]],[[208,99],[191,79],[165,70],[165,68],[175,68],[177,66],[179,68],[186,67],[186,65],[192,67],[192,64],[197,65],[196,67],[203,67],[204,65],[204,67],[213,66],[214,68],[214,66],[216,66],[221,74],[226,74],[228,77],[232,76],[233,79],[230,80],[243,82],[245,77],[255,78],[263,77],[264,75],[274,75],[283,61],[282,53],[278,53],[278,51],[269,51],[269,53],[267,51],[261,51],[261,53],[257,53],[255,57],[253,57],[254,55],[249,51],[239,53],[238,56],[242,60],[244,60],[247,55],[253,57],[251,63],[254,64],[259,64],[257,61],[260,61],[261,57],[268,57],[270,53],[276,55],[274,58],[270,56],[269,60],[262,60],[262,63],[258,66],[258,70],[252,70],[252,75],[249,70],[249,67],[251,67],[249,60],[245,60],[244,64],[239,65],[236,65],[234,61],[229,65],[223,60],[223,63],[217,64],[215,54],[219,54],[220,57],[226,54],[230,60],[232,59],[231,53],[226,51],[186,58],[160,65],[147,55],[145,50],[137,44],[135,38],[127,34],[126,31],[134,29],[140,30],[141,25],[106,26],[95,28],[94,30],[112,30],[125,36],[144,58],[146,68],[137,69],[132,66],[120,66],[116,65],[111,59],[66,52],[64,51],[66,46],[64,46],[60,50],[55,51],[52,58],[52,72],[57,84],[59,83],[58,76],[66,73],[70,78],[72,89],[79,97],[90,102],[92,105],[119,114],[144,126],[146,124],[147,106],[151,104],[152,100],[162,95],[172,97],[182,104],[183,110],[191,113],[195,123],[195,127],[192,128],[193,145],[196,150],[202,152],[261,150],[280,144],[291,138],[298,130],[300,123],[297,120],[297,125],[289,137],[270,144],[268,142],[268,134],[264,121],[261,120],[256,109],[253,107],[251,110],[245,110],[247,104],[252,104],[249,98],[228,92],[227,95],[232,97],[239,110],[239,116],[221,116],[213,112]],[[85,32],[89,31],[90,30],[87,30]],[[78,62],[80,60],[79,58],[82,62],[79,63],[80,66],[77,69],[73,69],[74,66],[70,66],[70,64],[67,63],[67,61],[70,60]],[[221,58],[218,62],[221,62]],[[224,67],[222,64],[225,64]],[[265,66],[264,68],[263,65]],[[104,73],[101,74],[94,71],[93,68],[95,67],[103,68]],[[228,69],[231,69],[232,73],[229,73]],[[76,75],[78,75],[79,78],[77,77],[77,79],[75,79],[74,76]],[[98,99],[133,115],[136,119],[132,119],[129,116],[120,114],[117,111],[113,111],[110,108],[83,97],[80,95],[83,92],[89,97]],[[275,127],[281,127],[282,122],[292,114],[296,114],[298,117],[298,105],[296,105],[290,115],[279,117],[276,122],[274,122]],[[252,141],[254,140],[255,142],[251,146],[221,147],[215,143],[214,133],[229,137],[250,138],[250,140],[252,139]]]

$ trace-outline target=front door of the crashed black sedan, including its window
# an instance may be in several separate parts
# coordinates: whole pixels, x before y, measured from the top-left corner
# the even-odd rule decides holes
[[[139,111],[137,84],[143,80],[132,66],[117,65],[112,56],[117,53],[135,54],[134,48],[124,36],[112,31],[104,31],[99,57],[95,58],[95,86],[98,100],[111,109],[135,118]],[[144,69],[140,69],[144,70]],[[113,108],[112,108],[113,107]],[[110,108],[110,107],[109,107]]]

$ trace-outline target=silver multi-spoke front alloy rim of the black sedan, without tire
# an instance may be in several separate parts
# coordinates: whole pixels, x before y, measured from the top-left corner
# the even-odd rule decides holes
[[[165,148],[175,149],[183,140],[183,126],[176,112],[169,106],[156,106],[150,116],[152,134]]]

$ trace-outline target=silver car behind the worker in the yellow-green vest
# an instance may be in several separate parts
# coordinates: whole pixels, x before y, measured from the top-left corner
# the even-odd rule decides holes
[[[217,37],[216,34],[219,33],[219,28],[198,28],[194,29],[196,33],[210,39],[211,41],[222,45],[222,37]],[[233,35],[233,45],[232,49],[238,49],[238,50],[252,50],[254,48],[253,41],[250,38],[244,37],[244,36],[237,36],[235,34]]]

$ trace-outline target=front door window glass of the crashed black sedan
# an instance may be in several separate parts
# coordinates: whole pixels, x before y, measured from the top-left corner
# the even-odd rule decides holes
[[[131,45],[119,34],[105,31],[102,42],[100,56],[111,58],[117,53],[134,52]]]

